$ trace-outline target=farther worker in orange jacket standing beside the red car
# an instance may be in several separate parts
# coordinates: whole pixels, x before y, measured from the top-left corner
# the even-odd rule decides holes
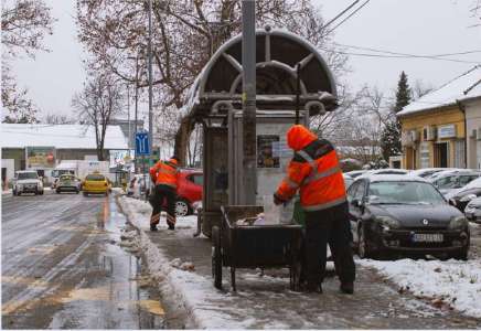
[[[167,199],[167,225],[169,229],[175,228],[178,164],[179,159],[172,157],[169,161],[159,161],[150,168],[150,179],[156,183],[153,194],[149,199],[153,209],[152,216],[150,217],[150,231],[157,231],[164,199]]]

